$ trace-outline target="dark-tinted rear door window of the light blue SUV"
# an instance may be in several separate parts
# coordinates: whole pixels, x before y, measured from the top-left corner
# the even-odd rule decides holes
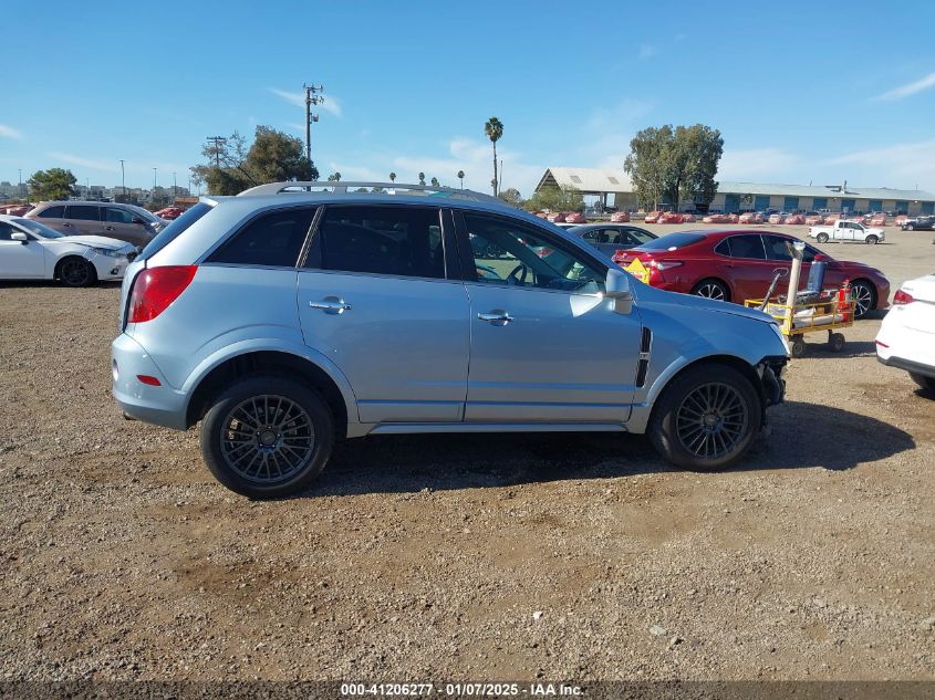
[[[435,207],[329,207],[305,267],[444,280],[440,217]]]

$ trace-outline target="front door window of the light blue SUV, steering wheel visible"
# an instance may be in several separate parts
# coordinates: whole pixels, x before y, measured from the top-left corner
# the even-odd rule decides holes
[[[604,291],[605,270],[533,228],[468,212],[464,220],[478,282],[579,294]]]

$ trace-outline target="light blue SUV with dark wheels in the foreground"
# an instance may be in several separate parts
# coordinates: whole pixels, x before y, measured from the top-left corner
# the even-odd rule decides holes
[[[211,473],[251,498],[305,489],[335,439],[365,435],[647,432],[675,464],[724,468],[785,389],[770,316],[642,284],[467,190],[202,198],[131,264],[121,304],[124,415],[200,421]]]

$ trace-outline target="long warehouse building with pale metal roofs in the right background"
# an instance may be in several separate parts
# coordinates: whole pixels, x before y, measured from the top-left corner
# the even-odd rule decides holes
[[[630,178],[623,170],[595,168],[548,168],[536,191],[543,187],[574,187],[582,191],[590,208],[615,207],[636,210],[640,207]],[[692,202],[683,208],[692,209]],[[923,190],[843,185],[770,185],[766,182],[718,184],[710,209],[740,211],[781,209],[783,211],[905,211],[911,215],[935,213],[935,195]]]

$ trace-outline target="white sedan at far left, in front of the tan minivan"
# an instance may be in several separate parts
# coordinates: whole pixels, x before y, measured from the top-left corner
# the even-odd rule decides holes
[[[136,248],[103,236],[63,236],[22,217],[0,216],[0,280],[61,280],[87,286],[121,280]]]

